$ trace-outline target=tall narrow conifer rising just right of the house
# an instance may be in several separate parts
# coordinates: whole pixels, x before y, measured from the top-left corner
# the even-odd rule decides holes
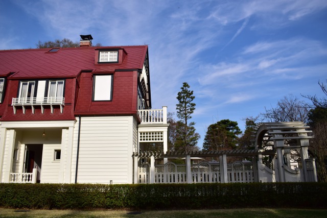
[[[176,104],[177,117],[180,118],[177,122],[175,151],[193,151],[197,148],[198,139],[200,135],[195,132],[194,122],[189,123],[192,118],[192,113],[195,110],[195,103],[193,100],[195,96],[190,90],[190,85],[186,82],[180,88],[181,91],[177,94],[178,104]]]

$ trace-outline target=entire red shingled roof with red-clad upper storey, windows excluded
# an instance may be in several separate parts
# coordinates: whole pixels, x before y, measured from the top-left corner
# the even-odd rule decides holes
[[[120,50],[119,63],[98,64],[98,50]],[[137,73],[142,69],[148,46],[72,47],[58,52],[50,49],[4,50],[0,51],[0,77],[7,77],[5,99],[0,104],[1,120],[67,120],[81,115],[124,115],[137,112]],[[85,70],[85,71],[83,71]],[[121,72],[120,72],[121,71]],[[92,101],[92,74],[112,73],[112,101]],[[66,78],[65,106],[53,114],[50,109],[36,107],[35,113],[27,107],[26,114],[17,107],[13,113],[12,98],[17,98],[19,79]],[[78,87],[76,86],[79,81]]]

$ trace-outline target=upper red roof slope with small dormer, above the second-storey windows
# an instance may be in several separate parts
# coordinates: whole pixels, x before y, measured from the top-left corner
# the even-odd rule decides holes
[[[95,64],[96,50],[123,49],[127,55],[122,63]],[[81,70],[113,72],[118,69],[142,69],[147,45],[67,47],[51,49],[0,51],[0,76],[15,72],[8,79],[69,78]]]

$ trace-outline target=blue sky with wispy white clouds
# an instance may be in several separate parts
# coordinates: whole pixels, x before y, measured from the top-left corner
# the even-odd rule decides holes
[[[0,1],[0,50],[91,34],[102,45],[149,45],[153,108],[175,112],[183,82],[194,90],[201,135],[289,94],[322,96],[327,1]]]

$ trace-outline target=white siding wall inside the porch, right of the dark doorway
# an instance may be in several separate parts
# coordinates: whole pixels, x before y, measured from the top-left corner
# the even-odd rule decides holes
[[[54,160],[54,152],[60,149],[61,144],[43,144],[41,183],[58,183],[60,161]]]

